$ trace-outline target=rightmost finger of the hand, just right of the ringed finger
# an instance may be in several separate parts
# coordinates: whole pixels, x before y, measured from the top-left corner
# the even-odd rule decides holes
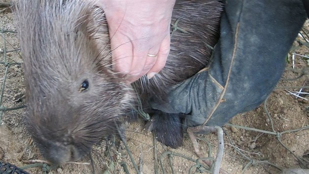
[[[158,52],[158,56],[157,56],[154,66],[147,73],[148,79],[151,79],[152,77],[154,77],[155,74],[157,74],[159,71],[161,71],[164,68],[168,54],[170,53],[170,45],[171,45],[171,36],[170,34],[168,34],[163,39],[160,45],[160,50]]]

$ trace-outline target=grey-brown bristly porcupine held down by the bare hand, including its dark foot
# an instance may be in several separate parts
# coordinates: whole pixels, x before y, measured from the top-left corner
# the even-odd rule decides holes
[[[164,102],[172,85],[207,65],[211,53],[207,45],[216,43],[221,9],[218,0],[176,2],[172,24],[179,19],[178,26],[187,33],[173,34],[170,56],[158,75],[134,83],[145,103],[149,98]],[[28,131],[51,162],[78,160],[113,133],[114,122],[135,105],[132,87],[112,71],[103,10],[81,0],[19,0],[15,12],[24,58]],[[81,91],[85,80],[89,87]],[[158,139],[179,146],[180,115],[155,113],[152,127]],[[163,132],[156,131],[162,127]],[[164,131],[169,136],[161,135]],[[178,138],[165,141],[171,136]]]

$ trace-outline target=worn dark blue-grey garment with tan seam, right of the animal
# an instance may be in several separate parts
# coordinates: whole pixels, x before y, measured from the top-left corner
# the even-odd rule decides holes
[[[285,57],[307,15],[302,0],[226,0],[220,40],[206,71],[152,103],[166,113],[184,113],[186,126],[222,126],[257,108],[274,89]]]

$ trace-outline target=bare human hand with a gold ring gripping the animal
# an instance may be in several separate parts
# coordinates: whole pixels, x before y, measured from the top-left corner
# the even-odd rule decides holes
[[[97,0],[108,23],[113,68],[130,84],[165,65],[175,0]]]

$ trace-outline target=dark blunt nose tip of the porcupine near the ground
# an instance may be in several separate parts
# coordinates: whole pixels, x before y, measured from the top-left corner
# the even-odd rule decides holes
[[[80,159],[77,147],[74,145],[53,146],[50,148],[46,158],[52,164],[61,165],[69,161],[77,161]]]

